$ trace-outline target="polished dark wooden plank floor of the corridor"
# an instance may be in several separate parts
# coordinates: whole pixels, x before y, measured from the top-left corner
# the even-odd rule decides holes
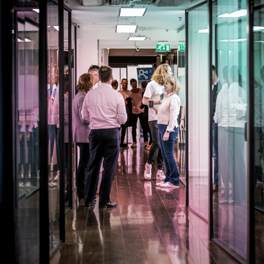
[[[120,151],[111,201],[88,208],[74,199],[66,214],[66,241],[50,263],[237,263],[208,240],[208,224],[185,206],[185,186],[162,188],[144,179],[143,143]],[[76,191],[74,192],[76,195]],[[98,199],[98,198],[97,198]]]

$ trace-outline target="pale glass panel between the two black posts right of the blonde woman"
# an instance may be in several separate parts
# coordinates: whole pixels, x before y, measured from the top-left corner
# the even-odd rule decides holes
[[[208,8],[188,12],[188,208],[208,221]]]

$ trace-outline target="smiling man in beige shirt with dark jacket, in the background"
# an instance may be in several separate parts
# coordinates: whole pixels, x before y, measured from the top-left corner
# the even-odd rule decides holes
[[[130,126],[132,125],[132,124],[130,124],[130,123],[132,123],[132,122],[130,122],[130,121],[132,121],[132,104],[131,104],[132,92],[128,90],[128,80],[127,79],[122,79],[121,85],[122,85],[122,88],[117,92],[121,93],[121,95],[123,96],[123,98],[125,100],[126,114],[128,115],[128,119],[127,119],[125,124],[122,124],[120,147],[126,148],[126,147],[128,147],[128,143],[126,143],[124,145],[126,129],[129,125]],[[130,99],[128,99],[128,98],[130,98]]]

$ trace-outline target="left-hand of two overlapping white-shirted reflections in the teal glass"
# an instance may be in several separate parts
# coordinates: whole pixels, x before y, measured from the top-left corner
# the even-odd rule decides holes
[[[215,104],[214,121],[218,124],[218,175],[222,175],[225,187],[228,186],[228,67],[222,70],[222,89]],[[220,177],[219,177],[220,180]],[[226,195],[224,192],[223,196]]]

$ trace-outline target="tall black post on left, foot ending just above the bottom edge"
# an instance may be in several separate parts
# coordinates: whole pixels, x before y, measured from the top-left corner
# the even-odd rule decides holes
[[[60,241],[65,242],[65,148],[64,148],[64,19],[63,0],[58,0],[59,11],[59,160],[60,160]]]

